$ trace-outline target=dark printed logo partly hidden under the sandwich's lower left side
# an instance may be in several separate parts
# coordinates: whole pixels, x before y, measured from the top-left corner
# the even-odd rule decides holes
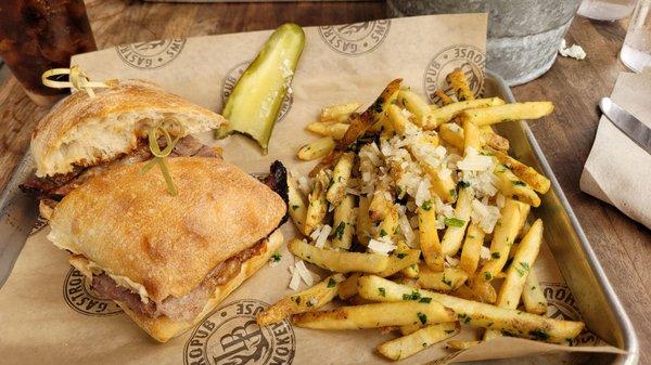
[[[97,297],[90,288],[89,279],[75,268],[71,268],[65,275],[63,298],[69,308],[85,315],[108,316],[123,313],[113,300]]]

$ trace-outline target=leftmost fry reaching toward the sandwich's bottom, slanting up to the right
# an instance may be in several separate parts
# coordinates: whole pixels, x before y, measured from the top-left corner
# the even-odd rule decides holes
[[[268,326],[292,314],[315,311],[332,301],[336,296],[339,283],[344,279],[344,275],[334,274],[307,290],[284,297],[260,312],[256,316],[256,322],[260,326]]]

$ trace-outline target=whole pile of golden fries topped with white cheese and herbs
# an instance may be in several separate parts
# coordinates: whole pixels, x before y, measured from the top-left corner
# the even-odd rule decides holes
[[[261,324],[291,315],[306,328],[399,329],[403,337],[378,346],[390,360],[463,326],[485,328],[484,340],[507,335],[561,343],[580,333],[580,322],[538,315],[547,303],[532,270],[542,223],[529,227],[527,217],[549,180],[509,156],[510,142],[492,128],[553,106],[474,100],[460,69],[448,82],[455,95],[435,93],[442,107],[396,79],[363,113],[359,103],[331,105],[307,125],[323,139],[299,158],[322,158],[307,199],[306,186],[302,192],[290,179],[290,214],[308,239],[288,247],[336,279],[281,299],[260,314]],[[315,311],[335,296],[352,307],[335,301],[332,310]],[[521,299],[526,312],[516,310]],[[467,349],[476,340],[448,346]]]

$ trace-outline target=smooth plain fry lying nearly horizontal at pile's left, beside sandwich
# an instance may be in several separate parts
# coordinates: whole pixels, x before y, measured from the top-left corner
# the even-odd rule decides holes
[[[381,273],[390,262],[386,256],[317,248],[301,239],[292,239],[288,248],[302,260],[335,273]]]

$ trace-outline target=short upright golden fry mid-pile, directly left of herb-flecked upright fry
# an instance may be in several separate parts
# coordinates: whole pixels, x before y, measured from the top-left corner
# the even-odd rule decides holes
[[[425,263],[433,271],[441,272],[444,256],[436,229],[436,206],[431,200],[418,207],[418,236]]]

